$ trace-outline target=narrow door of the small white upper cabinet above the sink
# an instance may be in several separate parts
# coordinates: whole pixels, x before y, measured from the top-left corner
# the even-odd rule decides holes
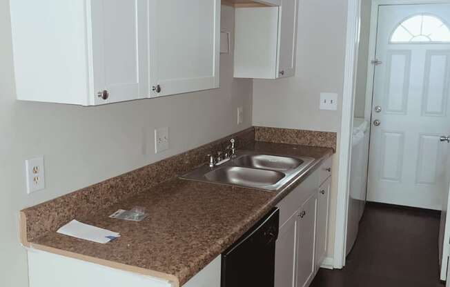
[[[298,0],[282,0],[278,32],[277,77],[292,77],[295,74],[297,46],[297,3]]]

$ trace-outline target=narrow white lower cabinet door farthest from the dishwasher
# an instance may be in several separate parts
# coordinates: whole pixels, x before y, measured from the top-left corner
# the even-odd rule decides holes
[[[330,206],[331,177],[320,186],[317,195],[317,230],[315,232],[315,271],[319,270],[326,255],[328,244],[328,217]]]

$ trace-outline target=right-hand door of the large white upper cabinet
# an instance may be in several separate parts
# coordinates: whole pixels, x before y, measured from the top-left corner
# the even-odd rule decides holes
[[[150,96],[219,88],[220,0],[148,1]]]

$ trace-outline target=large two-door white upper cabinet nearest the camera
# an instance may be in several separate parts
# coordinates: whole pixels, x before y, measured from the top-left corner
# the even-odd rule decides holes
[[[219,88],[219,0],[11,0],[10,10],[17,99],[95,106]]]

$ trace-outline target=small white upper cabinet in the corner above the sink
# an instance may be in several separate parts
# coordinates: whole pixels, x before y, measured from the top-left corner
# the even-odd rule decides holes
[[[295,75],[297,1],[275,7],[237,7],[235,73],[237,78],[278,79]]]

